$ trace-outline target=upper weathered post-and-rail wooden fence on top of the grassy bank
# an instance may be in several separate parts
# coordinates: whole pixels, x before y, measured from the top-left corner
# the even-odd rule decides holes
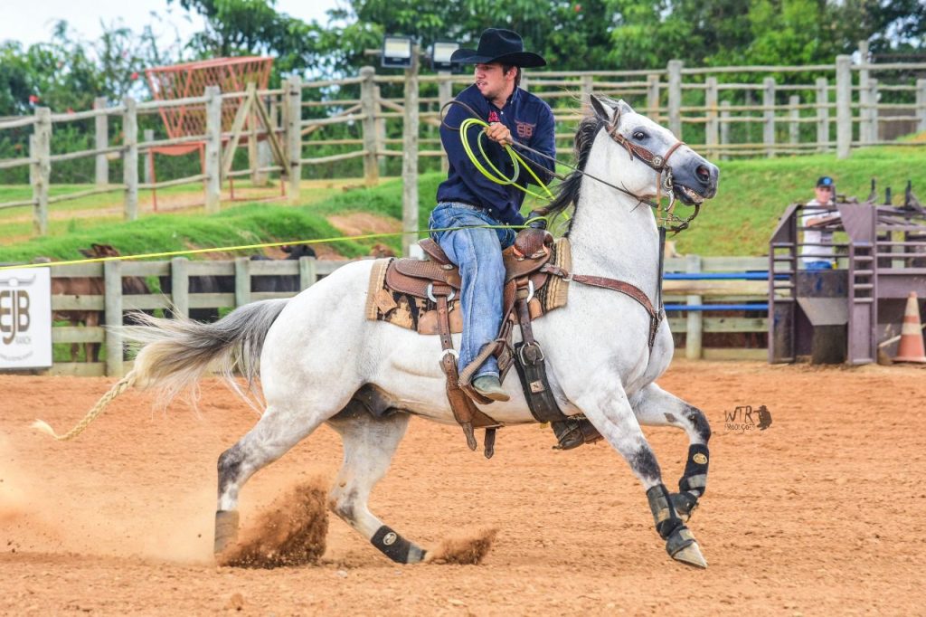
[[[864,44],[862,47],[860,57],[867,58],[867,49]],[[268,118],[259,126],[250,122],[247,169],[232,170],[243,127],[236,122],[231,131],[223,132],[221,105],[227,99],[244,100],[250,92],[219,93],[212,87],[203,96],[175,101],[136,103],[127,98],[119,107],[106,107],[100,101],[92,110],[67,114],[52,114],[39,107],[31,117],[0,120],[0,135],[6,130],[32,128],[29,156],[0,160],[0,170],[29,167],[32,196],[0,203],[0,208],[31,207],[35,233],[44,234],[49,205],[87,195],[122,191],[125,219],[133,220],[138,217],[140,190],[203,183],[206,210],[215,212],[220,206],[222,182],[238,176],[257,179],[280,173],[290,199],[297,200],[304,168],[362,159],[362,175],[373,184],[384,161],[400,157],[403,229],[418,229],[419,158],[444,157],[437,133],[440,107],[471,82],[469,75],[419,75],[418,57],[417,52],[413,54],[413,67],[402,75],[378,75],[368,67],[357,77],[315,82],[294,77],[280,89],[257,92]],[[895,142],[888,139],[894,133],[885,132],[901,125],[906,132],[926,131],[923,76],[926,63],[853,64],[849,56],[836,57],[832,65],[799,67],[685,68],[681,61],[672,60],[665,69],[653,70],[527,71],[522,87],[554,107],[557,141],[560,151],[566,153],[564,159],[569,157],[568,144],[590,94],[627,99],[708,157],[831,151],[847,157],[854,147],[865,145],[924,145]],[[386,90],[396,93],[400,88],[402,96],[382,94]],[[205,132],[164,140],[148,134],[139,140],[139,114],[156,114],[169,106],[202,107]],[[114,118],[121,126],[116,145],[111,143],[108,130],[109,120]],[[56,124],[90,119],[95,126],[94,149],[51,154]],[[357,136],[326,137],[326,127],[334,125],[347,125]],[[271,134],[282,139],[279,143],[267,140]],[[275,164],[270,164],[268,155],[260,156],[257,143],[261,140],[265,153],[268,141],[277,144],[272,157]],[[158,148],[194,144],[205,149],[202,173],[162,183],[139,181],[139,157],[146,159],[144,169],[150,170]],[[321,156],[319,149],[324,150]],[[96,186],[49,196],[52,165],[86,157],[95,159]],[[109,182],[109,157],[123,160],[121,183]],[[407,237],[406,246],[411,241]]]

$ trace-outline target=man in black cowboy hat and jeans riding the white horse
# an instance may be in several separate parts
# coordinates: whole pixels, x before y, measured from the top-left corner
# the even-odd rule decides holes
[[[468,106],[451,105],[441,126],[441,142],[447,153],[447,179],[437,189],[437,206],[429,227],[432,230],[462,228],[454,231],[432,231],[435,242],[444,249],[460,270],[460,308],[463,312],[463,341],[460,345],[458,370],[475,360],[482,348],[492,343],[502,321],[502,287],[505,266],[502,249],[511,246],[515,230],[505,225],[523,225],[520,207],[524,193],[510,185],[494,183],[486,178],[469,159],[462,139],[477,153],[488,169],[485,158],[507,178],[514,175],[514,165],[505,145],[523,144],[549,157],[556,157],[553,111],[544,101],[519,89],[522,67],[544,67],[543,57],[524,51],[517,32],[490,28],[482,32],[477,49],[457,49],[451,60],[475,65],[475,83],[457,95],[456,101]],[[479,126],[462,135],[458,127],[472,117],[489,123],[488,139],[481,140]],[[518,150],[537,176],[548,182],[554,162],[532,152]],[[527,170],[520,170],[516,183],[532,182]],[[487,229],[494,225],[498,229]],[[472,372],[470,384],[482,396],[506,401],[508,395],[499,381],[498,363],[489,356]]]

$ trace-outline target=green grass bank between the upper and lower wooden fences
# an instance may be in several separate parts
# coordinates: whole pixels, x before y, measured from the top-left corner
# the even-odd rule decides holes
[[[720,193],[702,208],[692,228],[675,237],[682,253],[712,255],[764,255],[769,237],[784,208],[813,196],[813,185],[822,174],[835,178],[840,194],[864,200],[872,177],[878,180],[882,200],[884,188],[894,189],[894,203],[901,203],[907,179],[914,191],[926,197],[926,149],[878,147],[858,150],[845,160],[832,155],[779,157],[720,161]],[[439,173],[424,174],[419,181],[419,228],[427,226]],[[4,189],[0,187],[0,192]],[[17,189],[19,190],[19,189]],[[29,260],[37,255],[76,258],[77,249],[105,243],[123,254],[153,253],[211,246],[236,246],[260,242],[309,240],[339,236],[327,220],[332,216],[362,212],[401,220],[402,184],[399,179],[383,181],[374,188],[346,192],[304,188],[303,204],[247,204],[225,206],[221,214],[201,213],[145,215],[130,223],[81,218],[65,233],[35,238],[0,247],[0,261]],[[3,196],[0,193],[0,196]],[[678,206],[680,214],[687,208]],[[615,213],[614,224],[619,225]],[[2,225],[2,220],[0,220]],[[344,257],[369,251],[374,242],[397,248],[399,238],[364,242],[340,241],[333,248]]]

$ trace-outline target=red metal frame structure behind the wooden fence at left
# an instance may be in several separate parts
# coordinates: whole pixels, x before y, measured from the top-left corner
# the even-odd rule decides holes
[[[222,132],[228,132],[232,128],[238,107],[244,100],[244,90],[247,84],[255,82],[257,90],[267,89],[272,66],[272,57],[217,57],[169,67],[144,69],[144,75],[156,101],[202,96],[206,92],[206,86],[211,85],[219,86],[222,93],[242,93],[240,97],[227,98],[222,101]],[[161,107],[160,115],[171,139],[206,133],[206,108],[201,104]],[[246,135],[243,135],[242,139],[246,139]],[[204,148],[205,142],[162,145],[152,148],[152,154],[177,157],[198,150],[200,161],[202,161]],[[154,156],[150,160],[151,177],[154,182],[157,182]],[[156,195],[154,203],[157,209]]]

